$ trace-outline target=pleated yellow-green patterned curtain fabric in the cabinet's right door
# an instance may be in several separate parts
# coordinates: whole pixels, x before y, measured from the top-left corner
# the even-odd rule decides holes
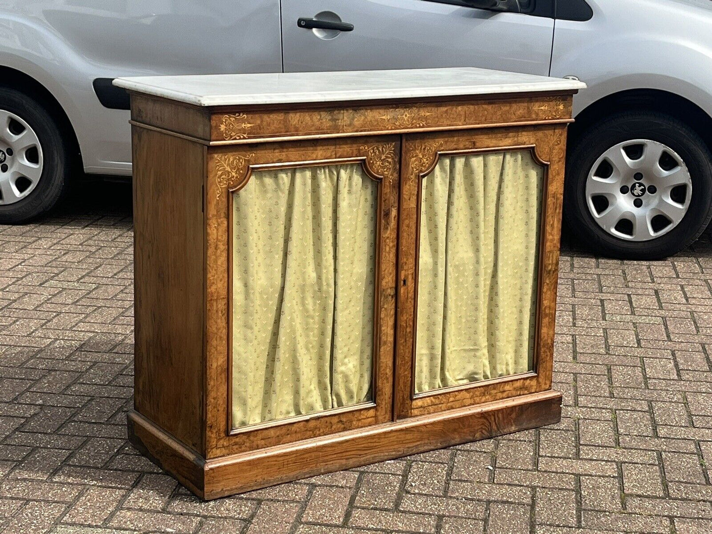
[[[416,392],[532,368],[543,176],[520,150],[423,179]]]

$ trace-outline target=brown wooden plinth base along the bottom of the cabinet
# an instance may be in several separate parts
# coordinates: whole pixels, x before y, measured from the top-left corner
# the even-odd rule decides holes
[[[561,419],[561,398],[550,390],[214,459],[204,459],[134,410],[127,424],[136,449],[197,496],[214,499],[554,424]]]

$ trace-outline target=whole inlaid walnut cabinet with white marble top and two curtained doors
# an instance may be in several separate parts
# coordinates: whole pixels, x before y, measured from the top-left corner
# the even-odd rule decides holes
[[[129,436],[184,486],[216,498],[559,421],[582,84],[435,69],[117,85],[132,95]]]

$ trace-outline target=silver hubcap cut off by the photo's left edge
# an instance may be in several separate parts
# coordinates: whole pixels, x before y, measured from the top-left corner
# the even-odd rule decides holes
[[[0,205],[27,197],[37,187],[42,169],[35,131],[18,115],[0,110]]]

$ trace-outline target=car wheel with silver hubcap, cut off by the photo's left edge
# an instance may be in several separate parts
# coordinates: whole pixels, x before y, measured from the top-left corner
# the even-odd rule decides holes
[[[0,88],[0,224],[26,222],[61,199],[70,172],[63,137],[40,103]]]

